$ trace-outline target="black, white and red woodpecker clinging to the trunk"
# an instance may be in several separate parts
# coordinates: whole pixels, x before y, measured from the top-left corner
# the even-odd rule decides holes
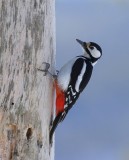
[[[54,83],[56,87],[56,117],[50,129],[49,140],[52,143],[57,125],[64,120],[69,110],[87,86],[93,67],[102,56],[101,47],[94,42],[83,42],[76,39],[83,49],[79,55],[67,62],[58,72]]]

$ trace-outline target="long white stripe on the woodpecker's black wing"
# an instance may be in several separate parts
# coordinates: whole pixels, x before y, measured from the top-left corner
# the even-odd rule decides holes
[[[85,71],[86,71],[86,63],[84,62],[84,63],[83,63],[82,70],[81,70],[81,73],[80,73],[80,75],[78,76],[78,79],[77,79],[76,85],[75,85],[75,90],[76,90],[77,92],[79,92],[79,86],[80,86],[80,83],[81,83],[81,81],[82,81],[82,78],[83,78],[83,75],[84,75]]]

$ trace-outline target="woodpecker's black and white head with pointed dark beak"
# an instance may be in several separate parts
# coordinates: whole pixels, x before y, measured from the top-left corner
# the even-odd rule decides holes
[[[97,60],[102,56],[101,47],[94,42],[83,42],[79,39],[76,39],[77,42],[82,46],[84,50],[84,56],[89,59],[92,63],[97,62]]]

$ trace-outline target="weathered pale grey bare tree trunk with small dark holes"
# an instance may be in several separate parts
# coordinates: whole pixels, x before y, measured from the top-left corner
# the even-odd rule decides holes
[[[0,0],[0,160],[50,160],[54,0]],[[54,70],[51,69],[52,72]]]

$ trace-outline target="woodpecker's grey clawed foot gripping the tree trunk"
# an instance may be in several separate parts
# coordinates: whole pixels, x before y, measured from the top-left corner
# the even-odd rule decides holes
[[[37,68],[37,70],[43,72],[43,73],[44,73],[44,76],[49,75],[49,76],[51,76],[51,77],[55,80],[55,79],[57,78],[57,75],[52,74],[52,73],[49,71],[50,64],[47,63],[47,62],[43,62],[42,64],[43,64],[43,65],[42,65],[42,68],[43,68],[43,69]]]

